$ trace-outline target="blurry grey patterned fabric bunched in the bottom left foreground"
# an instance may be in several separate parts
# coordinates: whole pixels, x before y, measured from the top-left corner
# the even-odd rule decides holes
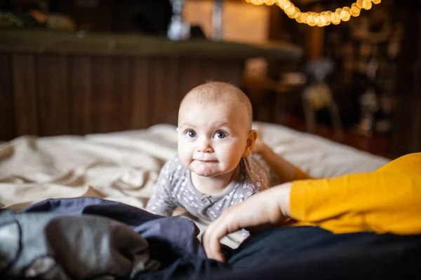
[[[147,241],[123,223],[0,211],[1,279],[114,279],[158,267]]]

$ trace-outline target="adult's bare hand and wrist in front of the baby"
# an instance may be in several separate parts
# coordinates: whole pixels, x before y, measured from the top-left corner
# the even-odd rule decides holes
[[[208,226],[202,236],[202,244],[208,258],[225,262],[220,239],[231,232],[246,228],[253,235],[260,230],[286,223],[291,186],[292,183],[274,186],[225,210]]]

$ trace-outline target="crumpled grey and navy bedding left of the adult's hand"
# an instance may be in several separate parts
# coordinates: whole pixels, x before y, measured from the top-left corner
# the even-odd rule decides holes
[[[220,267],[206,259],[197,235],[187,218],[163,218],[119,202],[45,200],[0,212],[0,279],[135,279],[177,262],[175,275],[182,260]]]

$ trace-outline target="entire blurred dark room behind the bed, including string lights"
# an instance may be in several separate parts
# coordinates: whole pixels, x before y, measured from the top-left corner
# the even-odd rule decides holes
[[[293,1],[336,12],[317,19],[276,3],[0,0],[0,141],[176,124],[188,90],[222,80],[255,120],[421,151],[420,1]]]

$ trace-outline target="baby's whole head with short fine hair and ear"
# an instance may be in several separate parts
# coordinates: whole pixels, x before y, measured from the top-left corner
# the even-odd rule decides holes
[[[233,172],[251,154],[257,132],[251,129],[250,100],[238,87],[211,82],[194,87],[178,111],[178,155],[199,176]]]

